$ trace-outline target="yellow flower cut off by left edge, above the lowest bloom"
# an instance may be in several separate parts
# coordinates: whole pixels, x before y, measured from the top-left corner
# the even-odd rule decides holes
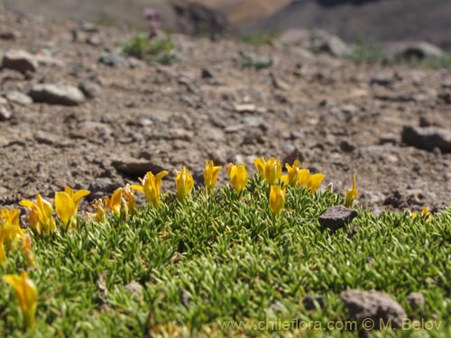
[[[0,263],[6,261],[6,251],[12,250],[25,233],[19,224],[19,215],[17,209],[0,209]]]

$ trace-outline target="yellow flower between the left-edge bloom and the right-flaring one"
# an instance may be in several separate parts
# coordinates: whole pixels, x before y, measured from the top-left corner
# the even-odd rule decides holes
[[[51,202],[36,196],[36,202],[23,199],[19,205],[25,206],[28,211],[27,222],[37,233],[53,233],[56,231],[55,220],[53,219],[53,207]]]

